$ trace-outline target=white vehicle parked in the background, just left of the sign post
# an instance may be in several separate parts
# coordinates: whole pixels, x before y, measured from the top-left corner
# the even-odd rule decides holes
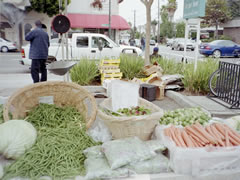
[[[185,43],[185,39],[184,38],[176,38],[173,43],[172,43],[172,50],[184,50],[184,43]],[[187,45],[186,45],[187,49],[191,49],[192,51],[194,51],[195,49],[195,42],[187,39]]]

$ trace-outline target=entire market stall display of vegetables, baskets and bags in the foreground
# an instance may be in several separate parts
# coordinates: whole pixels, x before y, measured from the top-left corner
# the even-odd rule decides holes
[[[0,105],[0,178],[239,178],[239,116],[213,119],[198,107],[164,112],[134,96],[139,86],[118,83],[98,107],[68,82],[37,83],[8,98]]]

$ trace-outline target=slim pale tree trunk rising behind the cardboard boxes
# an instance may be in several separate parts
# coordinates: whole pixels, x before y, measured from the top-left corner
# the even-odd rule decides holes
[[[145,48],[145,65],[149,64],[150,56],[150,36],[151,36],[151,5],[146,4],[147,24],[146,24],[146,48]]]

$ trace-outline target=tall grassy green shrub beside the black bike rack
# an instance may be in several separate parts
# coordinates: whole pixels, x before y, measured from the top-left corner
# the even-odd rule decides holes
[[[198,61],[196,72],[194,72],[194,64],[187,64],[183,72],[185,89],[192,93],[207,94],[208,80],[217,69],[218,61],[212,58]]]

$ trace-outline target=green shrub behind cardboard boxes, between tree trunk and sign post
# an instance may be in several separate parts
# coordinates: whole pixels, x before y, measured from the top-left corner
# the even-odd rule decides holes
[[[158,58],[153,59],[152,63],[157,61],[159,66],[163,69],[163,74],[182,74],[183,73],[183,63],[177,63],[175,60]]]

